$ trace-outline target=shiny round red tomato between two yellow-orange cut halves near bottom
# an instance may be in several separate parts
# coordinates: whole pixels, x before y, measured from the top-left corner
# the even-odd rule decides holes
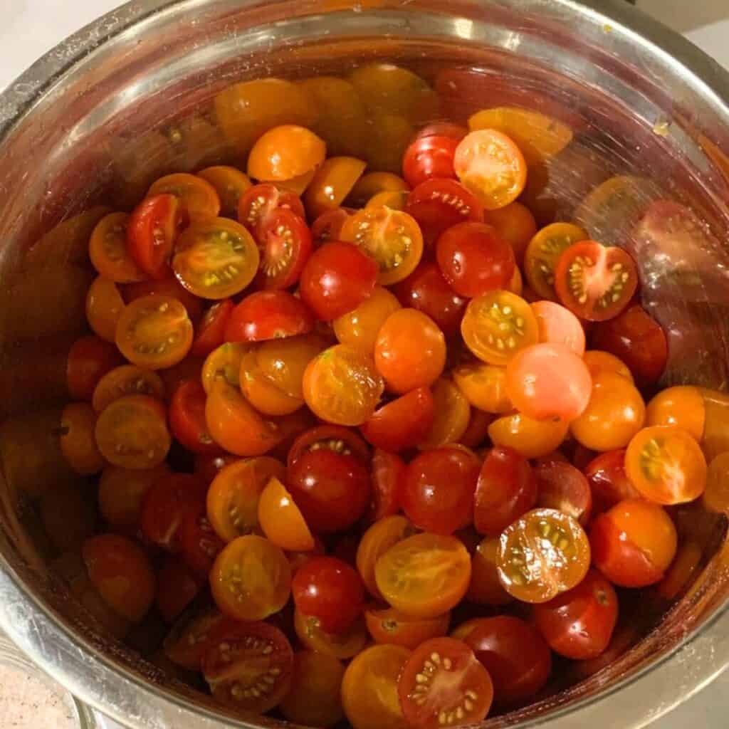
[[[364,585],[359,573],[335,557],[312,557],[294,576],[296,609],[325,633],[343,633],[362,614]]]

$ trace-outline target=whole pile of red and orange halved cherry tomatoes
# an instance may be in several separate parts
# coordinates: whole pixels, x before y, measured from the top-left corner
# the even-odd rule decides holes
[[[666,338],[630,255],[537,230],[502,131],[424,128],[402,165],[278,126],[247,175],[165,176],[90,239],[61,428],[101,474],[87,577],[234,712],[534,701],[554,654],[609,646],[616,587],[677,580],[665,507],[706,488],[709,395],[644,401]]]

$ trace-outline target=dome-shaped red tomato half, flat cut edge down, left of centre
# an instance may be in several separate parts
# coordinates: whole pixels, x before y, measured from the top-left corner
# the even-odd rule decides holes
[[[257,291],[246,296],[230,313],[227,342],[262,342],[295,337],[313,330],[311,311],[287,291]]]

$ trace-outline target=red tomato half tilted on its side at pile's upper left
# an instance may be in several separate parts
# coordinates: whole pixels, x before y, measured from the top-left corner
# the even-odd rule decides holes
[[[184,222],[182,203],[167,193],[145,198],[135,208],[127,227],[127,250],[150,278],[169,274],[172,249]]]

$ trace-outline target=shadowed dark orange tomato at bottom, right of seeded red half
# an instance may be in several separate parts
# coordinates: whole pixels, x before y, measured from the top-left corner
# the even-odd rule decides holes
[[[289,722],[323,727],[344,718],[340,690],[344,676],[341,661],[313,650],[294,654],[291,690],[279,709]]]

